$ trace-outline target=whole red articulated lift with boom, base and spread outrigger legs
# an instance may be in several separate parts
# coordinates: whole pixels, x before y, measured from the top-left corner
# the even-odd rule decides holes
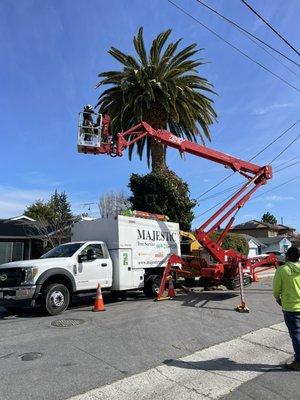
[[[131,129],[119,133],[113,138],[109,135],[108,115],[99,119],[101,126],[98,127],[98,138],[94,141],[97,145],[84,144],[82,127],[78,132],[78,151],[85,154],[108,154],[112,157],[121,157],[123,151],[131,144],[144,137],[151,137],[165,146],[173,147],[181,153],[193,154],[207,160],[224,165],[234,172],[242,175],[246,182],[227,200],[218,211],[216,211],[195,232],[195,237],[203,248],[211,256],[213,262],[198,259],[192,263],[177,255],[171,255],[165,268],[158,299],[162,298],[166,283],[170,280],[170,274],[179,273],[186,277],[200,277],[200,286],[210,287],[224,285],[229,290],[239,288],[241,304],[236,308],[240,312],[248,312],[245,305],[243,286],[251,284],[251,274],[254,275],[255,268],[263,265],[276,265],[277,258],[270,254],[267,258],[247,258],[233,249],[224,250],[221,245],[232,227],[237,212],[244,206],[260,186],[265,185],[272,178],[272,167],[270,165],[259,166],[251,162],[241,160],[229,154],[207,148],[194,142],[181,139],[171,132],[163,129],[153,129],[146,122],[141,122]],[[211,235],[217,231],[222,223],[227,222],[221,235],[212,240]],[[180,268],[178,269],[178,265]],[[248,273],[250,271],[250,274]]]

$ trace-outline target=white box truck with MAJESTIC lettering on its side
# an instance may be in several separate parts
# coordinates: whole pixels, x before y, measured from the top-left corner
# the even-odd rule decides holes
[[[72,295],[101,288],[154,296],[170,254],[180,255],[177,223],[118,216],[74,224],[72,242],[37,260],[0,265],[0,306],[64,311]]]

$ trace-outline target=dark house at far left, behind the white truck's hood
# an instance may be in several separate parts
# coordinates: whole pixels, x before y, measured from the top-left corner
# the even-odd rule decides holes
[[[0,264],[38,258],[43,253],[38,222],[26,216],[0,219]]]

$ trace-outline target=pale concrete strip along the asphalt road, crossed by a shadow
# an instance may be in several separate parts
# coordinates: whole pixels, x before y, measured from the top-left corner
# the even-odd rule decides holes
[[[281,368],[292,354],[283,323],[243,335],[69,400],[218,399]]]

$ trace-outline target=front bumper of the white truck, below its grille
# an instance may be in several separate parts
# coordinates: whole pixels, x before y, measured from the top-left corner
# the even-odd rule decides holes
[[[0,306],[34,306],[36,290],[36,286],[0,288]]]

